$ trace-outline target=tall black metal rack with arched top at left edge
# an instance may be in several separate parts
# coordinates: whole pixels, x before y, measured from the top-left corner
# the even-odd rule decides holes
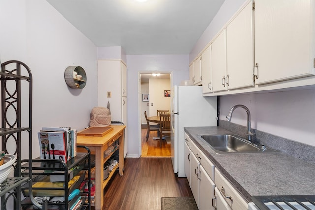
[[[21,185],[29,182],[29,185],[32,186],[32,180],[30,179],[32,177],[32,168],[30,169],[28,177],[21,176],[22,141],[28,142],[29,160],[32,162],[32,72],[29,67],[21,61],[7,61],[1,64],[0,81],[2,99],[1,146],[6,154],[16,156],[16,163],[13,166],[14,177],[9,177],[0,184],[1,210],[7,209],[7,202],[10,201],[10,197],[13,198],[14,209],[20,210]],[[23,97],[24,100],[22,100],[22,87],[23,93],[28,94],[27,99]],[[28,88],[28,90],[26,90],[28,92],[25,92],[26,88]],[[27,112],[23,114],[28,116],[28,120],[23,126],[22,106],[23,110]],[[16,146],[15,150],[13,149],[14,151],[12,151],[13,144]]]

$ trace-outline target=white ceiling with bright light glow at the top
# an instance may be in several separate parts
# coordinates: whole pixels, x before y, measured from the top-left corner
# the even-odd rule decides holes
[[[96,47],[189,54],[224,0],[47,0]]]

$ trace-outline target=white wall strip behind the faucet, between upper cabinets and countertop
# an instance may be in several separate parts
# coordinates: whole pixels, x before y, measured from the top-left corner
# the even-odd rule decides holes
[[[220,119],[232,106],[251,112],[252,128],[315,146],[315,89],[219,97]],[[246,112],[237,108],[231,122],[246,126]]]

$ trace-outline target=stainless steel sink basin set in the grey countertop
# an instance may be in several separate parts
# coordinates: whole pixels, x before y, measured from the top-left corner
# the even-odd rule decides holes
[[[217,154],[270,153],[278,152],[267,147],[257,146],[235,134],[198,135]]]

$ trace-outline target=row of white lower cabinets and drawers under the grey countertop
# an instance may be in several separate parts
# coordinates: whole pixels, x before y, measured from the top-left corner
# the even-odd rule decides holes
[[[185,174],[199,210],[247,210],[248,203],[185,133]]]

